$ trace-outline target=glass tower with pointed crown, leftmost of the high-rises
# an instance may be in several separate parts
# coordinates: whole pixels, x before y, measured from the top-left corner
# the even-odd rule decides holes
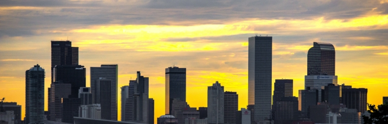
[[[45,69],[36,64],[26,71],[26,123],[43,123]]]

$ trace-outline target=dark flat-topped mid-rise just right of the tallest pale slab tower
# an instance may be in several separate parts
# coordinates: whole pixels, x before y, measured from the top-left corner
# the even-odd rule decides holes
[[[292,79],[275,79],[273,101],[279,101],[282,97],[293,96],[293,80]]]

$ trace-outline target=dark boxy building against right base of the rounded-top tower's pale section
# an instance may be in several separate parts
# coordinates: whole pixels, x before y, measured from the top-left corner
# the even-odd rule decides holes
[[[335,86],[334,84],[328,84],[322,86],[322,101],[332,105],[340,105],[342,98],[342,86]]]

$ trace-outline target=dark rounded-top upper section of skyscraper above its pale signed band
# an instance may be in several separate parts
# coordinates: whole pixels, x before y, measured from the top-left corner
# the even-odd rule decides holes
[[[336,51],[330,43],[314,42],[307,53],[307,75],[335,75]]]

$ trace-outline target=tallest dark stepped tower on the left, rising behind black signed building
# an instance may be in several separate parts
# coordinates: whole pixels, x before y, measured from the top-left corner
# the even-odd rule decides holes
[[[51,82],[55,65],[78,65],[78,47],[71,47],[71,41],[51,41]]]

